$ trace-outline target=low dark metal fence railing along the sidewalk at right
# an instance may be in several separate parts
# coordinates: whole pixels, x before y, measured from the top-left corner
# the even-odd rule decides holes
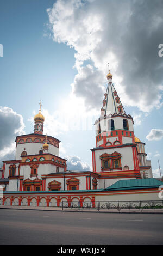
[[[157,210],[161,209],[163,212],[163,200],[156,201],[95,201],[95,202],[62,202],[62,210],[64,209],[97,209],[100,210],[110,210],[110,211],[123,211],[123,210],[137,210],[145,211],[148,209]]]

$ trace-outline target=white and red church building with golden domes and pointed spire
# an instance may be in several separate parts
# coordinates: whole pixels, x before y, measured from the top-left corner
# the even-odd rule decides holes
[[[43,135],[45,117],[40,103],[34,132],[17,136],[15,159],[3,161],[3,204],[39,206],[43,202],[44,206],[59,206],[62,200],[109,200],[105,192],[117,182],[129,184],[133,180],[132,184],[140,184],[139,180],[152,178],[145,143],[134,135],[134,120],[122,106],[110,70],[107,80],[101,114],[95,121],[92,172],[67,170],[66,159],[59,156],[59,139]]]

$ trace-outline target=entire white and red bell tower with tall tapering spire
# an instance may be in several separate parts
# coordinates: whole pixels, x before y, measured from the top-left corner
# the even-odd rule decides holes
[[[96,147],[91,151],[93,172],[101,175],[109,186],[119,179],[137,179],[141,175],[133,118],[126,114],[110,70],[106,77],[108,86],[100,117],[95,121]]]

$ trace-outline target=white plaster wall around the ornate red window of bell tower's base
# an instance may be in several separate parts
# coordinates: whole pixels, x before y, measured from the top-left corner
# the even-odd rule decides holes
[[[125,148],[114,148],[114,149],[102,149],[102,150],[96,150],[95,151],[95,157],[96,157],[96,172],[101,172],[101,159],[100,156],[104,153],[107,154],[112,154],[115,151],[118,153],[122,154],[121,157],[121,163],[122,163],[122,168],[124,166],[128,166],[130,170],[134,169],[134,162],[133,162],[133,151],[131,147],[125,147]]]

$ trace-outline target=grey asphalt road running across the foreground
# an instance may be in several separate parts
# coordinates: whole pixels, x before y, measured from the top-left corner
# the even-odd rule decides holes
[[[162,214],[0,209],[0,245],[162,244]]]

